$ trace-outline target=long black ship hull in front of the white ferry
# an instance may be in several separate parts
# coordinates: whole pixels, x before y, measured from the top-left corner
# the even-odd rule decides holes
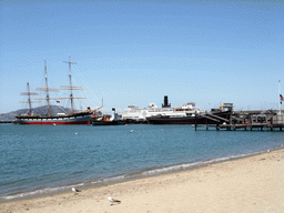
[[[230,120],[231,111],[226,112],[215,112],[206,114],[207,118],[197,115],[195,116],[182,116],[182,118],[170,118],[170,116],[150,116],[148,122],[150,124],[222,124],[224,119]],[[217,119],[222,118],[222,119]]]

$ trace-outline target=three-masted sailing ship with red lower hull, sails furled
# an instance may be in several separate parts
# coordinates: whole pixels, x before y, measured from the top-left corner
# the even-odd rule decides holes
[[[37,95],[34,92],[30,92],[29,82],[27,83],[28,92],[22,92],[22,95],[28,95],[28,101],[24,101],[26,103],[29,103],[29,112],[27,114],[20,114],[17,115],[17,122],[20,124],[39,124],[39,125],[60,125],[60,124],[90,124],[90,118],[91,118],[91,110],[88,108],[85,111],[74,111],[73,109],[73,100],[74,99],[85,99],[85,98],[78,98],[73,97],[73,90],[82,90],[81,87],[73,87],[72,85],[72,77],[71,77],[71,64],[75,64],[74,62],[71,62],[71,58],[69,57],[69,61],[64,61],[65,63],[69,63],[69,83],[70,85],[61,85],[61,90],[69,90],[70,97],[67,98],[50,98],[49,92],[57,92],[58,89],[49,88],[48,87],[48,72],[47,72],[47,63],[44,61],[44,73],[45,73],[45,88],[37,88],[37,91],[44,91],[47,97],[45,98],[38,98],[34,100],[45,100],[47,101],[47,108],[48,113],[42,114],[34,114],[31,111],[31,103],[34,101],[31,101],[31,95]],[[58,113],[57,115],[51,115],[50,113],[50,100],[60,100],[60,99],[69,99],[71,101],[71,111],[70,113]]]

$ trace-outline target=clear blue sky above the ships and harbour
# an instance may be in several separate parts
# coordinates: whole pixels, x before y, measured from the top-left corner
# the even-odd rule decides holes
[[[44,60],[49,87],[67,85],[69,55],[84,89],[74,97],[87,98],[78,109],[168,95],[172,106],[265,110],[284,93],[283,0],[0,0],[0,113],[27,108],[28,81],[45,85]]]

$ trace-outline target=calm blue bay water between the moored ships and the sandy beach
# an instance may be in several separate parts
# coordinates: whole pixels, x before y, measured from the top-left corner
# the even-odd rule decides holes
[[[133,131],[132,131],[133,130]],[[0,200],[155,175],[282,148],[284,132],[0,124]]]

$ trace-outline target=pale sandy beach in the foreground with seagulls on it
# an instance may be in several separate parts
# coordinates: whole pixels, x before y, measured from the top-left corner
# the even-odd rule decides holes
[[[121,201],[111,204],[108,194]],[[0,203],[17,212],[283,212],[284,150],[81,192]]]

